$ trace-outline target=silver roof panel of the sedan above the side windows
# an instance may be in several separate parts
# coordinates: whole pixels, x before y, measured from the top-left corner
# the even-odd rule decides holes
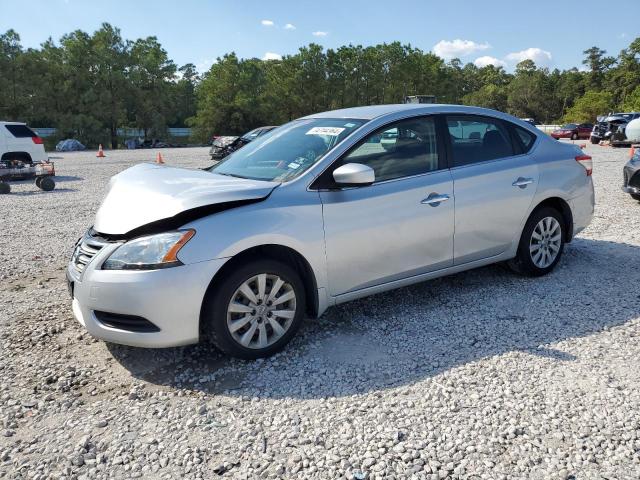
[[[467,113],[476,115],[489,115],[493,117],[500,117],[511,121],[517,120],[521,123],[522,120],[508,115],[506,113],[499,112],[497,110],[491,110],[481,107],[470,107],[466,105],[449,105],[449,104],[431,104],[431,103],[398,103],[389,105],[370,105],[367,107],[353,107],[342,108],[340,110],[330,110],[328,112],[314,113],[302,117],[304,119],[311,118],[352,118],[360,120],[373,120],[374,118],[383,117],[385,115],[391,115],[399,112],[413,112],[416,114],[429,114],[429,113]]]

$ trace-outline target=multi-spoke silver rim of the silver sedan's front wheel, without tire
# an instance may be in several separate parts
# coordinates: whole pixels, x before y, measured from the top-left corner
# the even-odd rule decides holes
[[[262,349],[287,332],[296,315],[296,293],[278,275],[260,273],[245,280],[227,306],[227,328],[245,348]]]

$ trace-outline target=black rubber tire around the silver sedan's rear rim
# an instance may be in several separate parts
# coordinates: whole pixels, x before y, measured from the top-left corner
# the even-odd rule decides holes
[[[560,246],[553,262],[548,266],[541,268],[534,263],[529,246],[534,229],[542,219],[547,217],[555,218],[560,225]],[[562,218],[562,214],[558,212],[558,210],[550,207],[543,207],[535,210],[527,220],[527,223],[522,230],[522,236],[520,237],[520,243],[518,244],[518,252],[516,257],[509,261],[509,266],[515,272],[529,277],[540,277],[542,275],[546,275],[551,272],[560,261],[564,250],[566,235],[567,228],[564,218]]]

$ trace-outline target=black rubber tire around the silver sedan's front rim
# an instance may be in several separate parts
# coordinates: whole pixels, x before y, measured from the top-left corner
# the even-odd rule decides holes
[[[264,348],[249,348],[241,345],[230,332],[227,326],[227,308],[238,288],[244,282],[262,273],[277,275],[291,286],[295,293],[295,315],[288,329],[277,341]],[[205,296],[200,322],[204,333],[220,350],[234,357],[255,360],[269,357],[282,350],[300,328],[305,311],[304,284],[296,270],[277,260],[254,259],[234,266],[221,279],[216,279],[215,285],[209,287]],[[267,325],[266,319],[262,321]],[[249,325],[247,324],[247,330],[250,329]],[[273,329],[270,326],[268,328],[273,334]],[[246,331],[243,333],[246,333]]]

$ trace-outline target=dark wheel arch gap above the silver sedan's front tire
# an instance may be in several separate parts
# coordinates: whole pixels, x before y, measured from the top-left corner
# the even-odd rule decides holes
[[[247,248],[241,252],[236,253],[231,257],[221,268],[216,272],[209,286],[207,292],[203,298],[202,305],[200,307],[200,318],[202,318],[205,299],[211,289],[215,288],[217,282],[224,278],[228,272],[233,270],[240,263],[256,259],[256,258],[271,258],[273,260],[279,260],[286,263],[289,266],[295,268],[300,275],[305,290],[305,300],[307,306],[307,314],[311,317],[317,317],[320,312],[320,299],[318,297],[318,283],[316,275],[311,267],[311,264],[307,259],[297,250],[291,247],[279,245],[279,244],[262,244],[254,247]],[[203,324],[200,322],[200,328],[202,330]]]

